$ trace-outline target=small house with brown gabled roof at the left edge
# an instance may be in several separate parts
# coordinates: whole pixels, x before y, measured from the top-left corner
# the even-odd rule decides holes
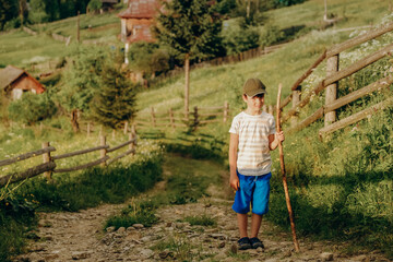
[[[19,99],[24,92],[41,94],[45,87],[23,69],[8,66],[0,70],[0,88],[12,99]]]

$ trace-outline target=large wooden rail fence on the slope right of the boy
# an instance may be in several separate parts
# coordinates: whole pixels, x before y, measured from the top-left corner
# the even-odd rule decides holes
[[[371,115],[372,112],[383,109],[385,106],[392,104],[392,98],[388,98],[386,100],[371,106],[360,112],[354,114],[345,119],[341,119],[336,121],[336,114],[335,110],[355,102],[358,98],[361,98],[367,95],[371,95],[373,92],[389,87],[393,83],[393,76],[389,75],[383,78],[372,84],[369,84],[360,90],[349,93],[346,96],[336,97],[337,94],[337,83],[340,80],[350,76],[352,74],[358,72],[359,70],[366,68],[367,66],[389,56],[393,51],[393,44],[383,47],[382,49],[360,59],[349,67],[345,69],[338,70],[340,63],[340,53],[358,46],[365,41],[374,39],[378,36],[381,36],[385,33],[393,31],[393,23],[381,26],[374,31],[370,31],[368,34],[357,36],[352,38],[347,41],[333,46],[332,48],[325,50],[317,61],[293,84],[291,86],[291,94],[283,99],[281,105],[281,109],[285,108],[291,102],[291,108],[286,111],[286,115],[283,116],[282,122],[286,122],[289,119],[290,121],[290,129],[287,132],[296,132],[299,131],[309,124],[313,123],[318,119],[324,116],[324,123],[325,127],[322,128],[319,133],[322,138],[323,135],[334,132],[338,129],[342,129],[348,124],[355,123],[365,119],[367,116]],[[313,70],[322,62],[326,60],[326,78],[318,83],[309,93],[305,94],[303,97],[300,96],[301,94],[301,83],[313,72]],[[299,110],[308,105],[311,98],[314,95],[318,95],[323,90],[326,88],[325,92],[325,104],[324,106],[320,107],[315,110],[311,116],[307,117],[306,119],[299,121],[298,112]]]

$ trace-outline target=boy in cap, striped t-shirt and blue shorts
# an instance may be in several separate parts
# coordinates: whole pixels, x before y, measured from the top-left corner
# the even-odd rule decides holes
[[[229,133],[230,187],[236,190],[233,210],[237,213],[240,250],[264,248],[258,238],[262,215],[267,213],[272,159],[270,151],[284,141],[276,134],[272,115],[262,112],[265,85],[259,79],[249,79],[242,88],[247,109],[237,115]],[[252,206],[251,235],[247,234],[247,213]]]

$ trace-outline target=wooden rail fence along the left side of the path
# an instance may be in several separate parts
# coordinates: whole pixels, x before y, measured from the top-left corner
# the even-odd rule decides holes
[[[45,142],[45,143],[43,143],[41,150],[28,152],[28,153],[25,153],[25,154],[22,154],[22,155],[19,155],[19,156],[9,158],[9,159],[0,160],[0,167],[1,167],[1,166],[7,166],[7,165],[11,165],[11,164],[21,162],[21,160],[28,159],[31,157],[43,155],[43,164],[32,167],[32,168],[28,168],[22,172],[15,172],[15,174],[10,174],[10,175],[0,177],[0,188],[8,186],[10,183],[14,183],[14,182],[31,178],[31,177],[38,176],[40,174],[45,174],[45,177],[48,180],[50,180],[52,172],[70,172],[70,171],[81,170],[81,169],[85,169],[85,168],[97,166],[97,165],[100,165],[102,167],[110,165],[111,163],[114,163],[127,155],[135,153],[136,134],[134,132],[135,129],[132,129],[132,130],[133,130],[133,132],[129,133],[129,140],[127,142],[119,144],[117,146],[114,146],[114,147],[110,147],[106,143],[106,136],[102,135],[100,144],[98,146],[86,148],[86,150],[66,153],[62,155],[51,155],[51,152],[55,152],[56,148],[53,146],[50,146],[49,142]],[[114,156],[112,158],[108,155],[108,153],[112,153],[117,150],[120,150],[120,148],[127,146],[127,145],[129,146],[127,152],[121,153],[117,156]],[[100,157],[96,160],[93,160],[93,162],[90,162],[90,163],[86,163],[83,165],[74,166],[74,167],[57,168],[56,160],[68,158],[68,157],[73,157],[76,155],[83,155],[83,154],[87,154],[87,153],[96,152],[96,151],[100,152]]]

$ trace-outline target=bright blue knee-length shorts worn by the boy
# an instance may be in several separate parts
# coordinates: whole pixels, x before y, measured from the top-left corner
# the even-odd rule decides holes
[[[272,174],[262,176],[243,176],[238,172],[240,187],[236,191],[233,210],[236,213],[247,214],[250,212],[257,215],[266,214],[269,211],[270,179]]]

